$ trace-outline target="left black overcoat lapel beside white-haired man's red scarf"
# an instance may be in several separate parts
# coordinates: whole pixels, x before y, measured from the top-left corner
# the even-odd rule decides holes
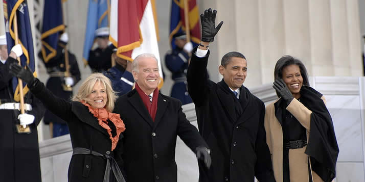
[[[150,116],[150,114],[147,111],[146,106],[143,104],[143,101],[138,94],[137,91],[135,91],[129,98],[128,101],[130,105],[142,116],[142,118],[152,127],[153,121]],[[157,110],[158,112],[158,110]]]

